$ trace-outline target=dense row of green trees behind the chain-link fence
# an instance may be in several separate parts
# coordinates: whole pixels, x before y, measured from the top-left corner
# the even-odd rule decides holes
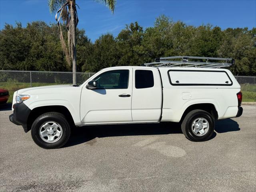
[[[64,29],[65,26],[62,26]],[[63,30],[64,41],[68,32]],[[0,30],[0,69],[70,71],[59,39],[57,24],[37,21],[22,27],[6,24]],[[229,69],[235,75],[256,75],[256,28],[189,26],[166,16],[142,29],[131,23],[115,38],[100,36],[94,43],[85,30],[76,29],[77,70],[96,72],[110,66],[138,66],[162,56],[210,56],[234,58]]]

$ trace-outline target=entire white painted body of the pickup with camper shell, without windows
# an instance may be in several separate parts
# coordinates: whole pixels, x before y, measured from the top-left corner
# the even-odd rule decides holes
[[[111,70],[129,70],[127,88],[86,88],[89,81]],[[154,86],[137,89],[136,70],[152,71]],[[226,69],[125,66],[100,70],[78,87],[43,86],[18,90],[14,93],[13,104],[17,94],[28,94],[30,98],[24,104],[31,110],[41,106],[64,106],[76,126],[179,122],[193,104],[213,104],[218,119],[235,117],[239,91],[240,85]],[[130,96],[120,97],[122,94]]]

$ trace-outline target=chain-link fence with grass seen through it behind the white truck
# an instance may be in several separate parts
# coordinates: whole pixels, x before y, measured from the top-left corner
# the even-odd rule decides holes
[[[82,84],[94,73],[76,73],[77,84]],[[57,84],[72,84],[72,72],[42,72],[42,71],[7,71],[0,70],[0,89],[9,91],[12,102],[14,91],[35,87]],[[235,76],[241,85],[244,102],[256,102],[256,77],[252,76]]]

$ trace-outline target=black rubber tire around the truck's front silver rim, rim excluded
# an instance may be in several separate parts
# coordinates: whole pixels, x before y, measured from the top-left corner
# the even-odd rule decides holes
[[[62,128],[62,135],[60,136],[59,140],[56,142],[48,143],[42,140],[39,135],[40,127],[45,124],[46,122],[54,121],[58,123]],[[48,112],[40,115],[36,120],[33,122],[31,127],[31,136],[34,142],[45,149],[56,149],[64,146],[70,137],[70,125],[67,122],[65,116],[58,112]]]

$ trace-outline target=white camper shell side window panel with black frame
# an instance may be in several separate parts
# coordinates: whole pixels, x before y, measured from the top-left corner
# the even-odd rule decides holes
[[[215,70],[168,70],[168,78],[173,86],[232,86],[226,71]]]

